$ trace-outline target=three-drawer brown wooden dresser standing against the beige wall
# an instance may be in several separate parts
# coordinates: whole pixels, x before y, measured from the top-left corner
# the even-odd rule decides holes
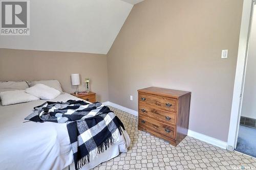
[[[158,87],[138,90],[138,129],[177,145],[187,135],[191,92]]]

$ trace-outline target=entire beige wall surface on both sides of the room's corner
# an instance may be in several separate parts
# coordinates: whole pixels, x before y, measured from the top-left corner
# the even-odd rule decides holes
[[[134,110],[140,88],[191,91],[189,129],[227,141],[242,6],[146,0],[134,6],[107,56],[0,48],[0,81],[57,79],[73,92],[70,75],[79,73],[81,81],[91,78],[98,101]]]

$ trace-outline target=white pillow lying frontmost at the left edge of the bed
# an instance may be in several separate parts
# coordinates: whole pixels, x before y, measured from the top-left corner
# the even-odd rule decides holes
[[[36,96],[26,93],[25,90],[3,91],[0,92],[0,97],[3,106],[39,100]]]

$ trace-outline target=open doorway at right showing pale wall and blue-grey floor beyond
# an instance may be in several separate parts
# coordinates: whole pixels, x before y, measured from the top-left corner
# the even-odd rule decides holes
[[[256,158],[256,11],[252,6],[244,71],[241,114],[235,151]]]

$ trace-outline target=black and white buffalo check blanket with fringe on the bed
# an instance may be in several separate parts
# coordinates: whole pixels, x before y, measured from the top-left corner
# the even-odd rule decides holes
[[[34,112],[25,119],[67,123],[76,169],[108,149],[125,130],[110,108],[99,102],[45,102],[34,107]]]

